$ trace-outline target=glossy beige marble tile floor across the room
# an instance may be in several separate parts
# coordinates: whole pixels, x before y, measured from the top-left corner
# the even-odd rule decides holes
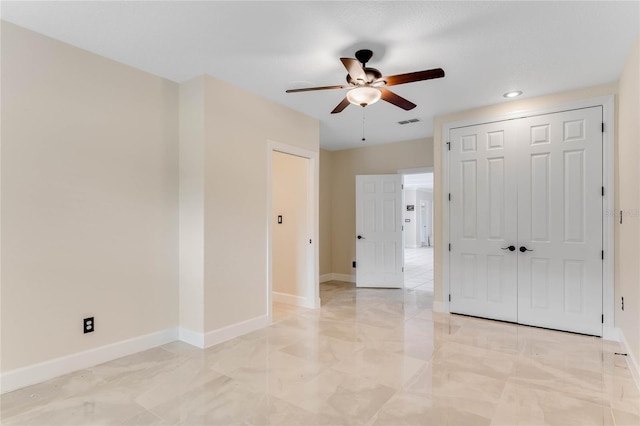
[[[3,425],[638,425],[619,345],[329,282],[322,308],[173,342],[2,395]]]

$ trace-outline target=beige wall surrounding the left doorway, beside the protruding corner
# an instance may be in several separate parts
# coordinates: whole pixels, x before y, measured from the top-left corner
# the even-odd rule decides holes
[[[318,152],[320,136],[318,120],[208,76],[204,111],[205,331],[214,331],[267,314],[267,141]]]

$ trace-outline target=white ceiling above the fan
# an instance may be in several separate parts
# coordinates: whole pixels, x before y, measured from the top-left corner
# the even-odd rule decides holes
[[[616,81],[639,30],[640,3],[562,2],[10,2],[2,19],[182,82],[209,74],[320,120],[320,144],[362,146],[362,108],[330,111],[338,60],[360,48],[384,75],[441,67],[446,77],[394,86],[418,105],[365,108],[366,144],[433,134],[433,117]],[[419,118],[414,124],[398,121]]]

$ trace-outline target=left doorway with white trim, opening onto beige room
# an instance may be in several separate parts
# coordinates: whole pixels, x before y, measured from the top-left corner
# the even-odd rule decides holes
[[[318,308],[317,153],[269,142],[267,310],[271,321]]]

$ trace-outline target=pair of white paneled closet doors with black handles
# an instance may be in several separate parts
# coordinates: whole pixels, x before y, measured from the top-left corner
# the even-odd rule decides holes
[[[451,130],[452,312],[602,335],[601,123],[593,107]]]

